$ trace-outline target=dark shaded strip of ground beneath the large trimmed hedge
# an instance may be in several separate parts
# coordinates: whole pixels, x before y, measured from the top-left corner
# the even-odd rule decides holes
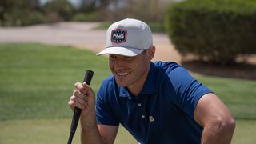
[[[198,74],[256,80],[256,65],[254,64],[238,63],[234,66],[218,66],[194,60],[183,61],[182,66]]]

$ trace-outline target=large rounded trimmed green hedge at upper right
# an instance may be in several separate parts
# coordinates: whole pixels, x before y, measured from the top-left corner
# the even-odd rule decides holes
[[[194,54],[200,60],[228,65],[238,55],[256,54],[256,2],[178,2],[167,10],[166,30],[181,54]]]

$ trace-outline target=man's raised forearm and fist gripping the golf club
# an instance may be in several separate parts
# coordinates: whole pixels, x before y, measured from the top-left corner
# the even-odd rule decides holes
[[[72,110],[74,110],[74,107],[82,109],[80,116],[82,144],[114,143],[118,126],[97,126],[95,95],[89,85],[86,85],[86,83],[76,83],[75,90],[68,104]]]

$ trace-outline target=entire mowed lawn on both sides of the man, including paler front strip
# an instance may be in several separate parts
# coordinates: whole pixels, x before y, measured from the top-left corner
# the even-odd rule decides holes
[[[66,143],[74,82],[94,70],[98,90],[110,74],[106,57],[70,46],[0,44],[0,143]],[[256,81],[194,74],[218,94],[236,118],[232,143],[255,143]],[[79,143],[79,130],[73,143]],[[138,143],[120,127],[115,143]]]

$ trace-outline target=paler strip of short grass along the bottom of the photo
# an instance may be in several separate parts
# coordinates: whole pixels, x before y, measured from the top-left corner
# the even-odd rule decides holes
[[[62,144],[67,142],[70,130],[70,118],[68,119],[33,119],[10,120],[0,122],[0,143],[3,144]],[[238,120],[234,132],[232,144],[253,144],[256,142],[256,121]],[[74,134],[73,143],[79,143],[79,128]],[[131,135],[120,126],[114,143],[131,144],[138,143]]]

